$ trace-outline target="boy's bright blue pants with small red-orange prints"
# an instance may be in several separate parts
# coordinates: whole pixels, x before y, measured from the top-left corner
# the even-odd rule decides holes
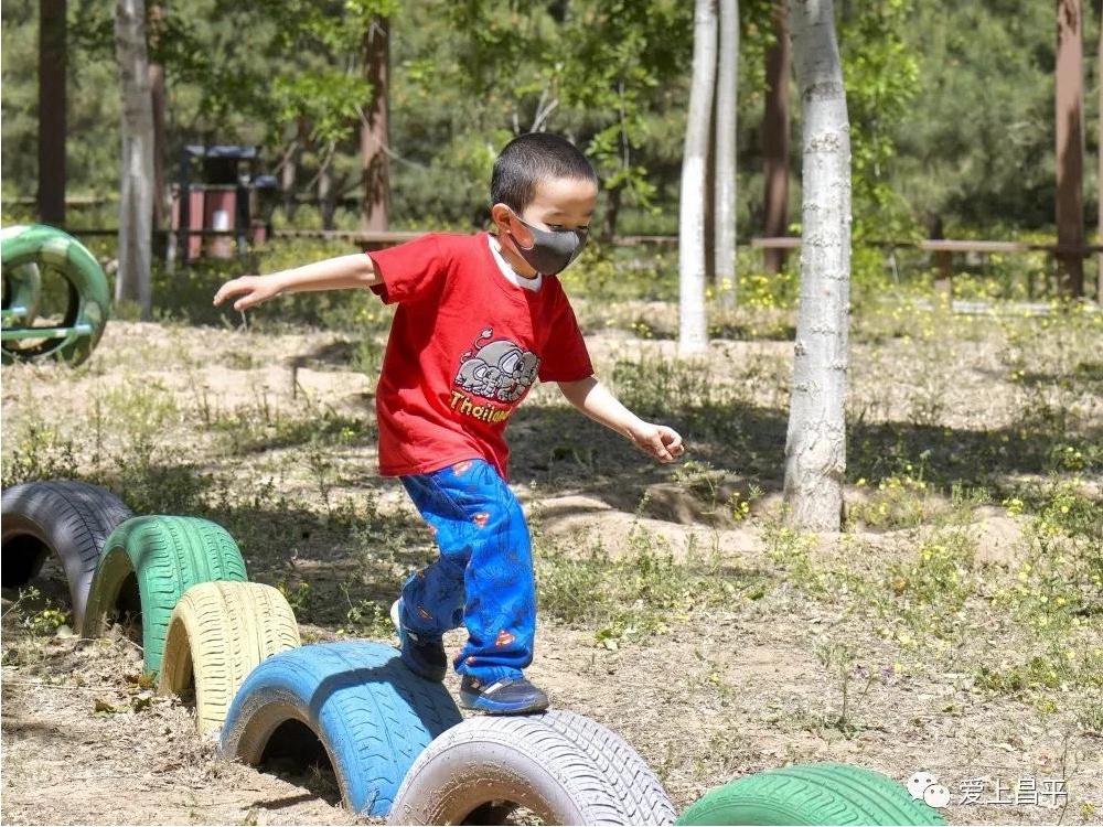
[[[520,678],[533,662],[536,581],[517,497],[482,459],[399,479],[440,550],[403,587],[403,625],[437,637],[467,626],[453,660],[460,675]]]

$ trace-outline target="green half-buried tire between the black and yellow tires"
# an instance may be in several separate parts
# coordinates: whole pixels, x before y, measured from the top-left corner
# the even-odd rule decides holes
[[[107,538],[96,567],[84,616],[85,637],[104,632],[128,578],[137,580],[146,670],[161,669],[172,610],[195,583],[244,581],[245,560],[234,538],[217,523],[199,517],[132,517]]]

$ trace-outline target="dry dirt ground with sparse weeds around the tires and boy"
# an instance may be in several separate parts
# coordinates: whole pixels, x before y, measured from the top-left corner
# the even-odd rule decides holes
[[[984,330],[951,342],[858,336],[852,450],[868,480],[848,474],[847,531],[804,538],[778,519],[792,344],[718,341],[681,370],[673,341],[595,330],[597,315],[586,318],[599,375],[683,430],[687,461],[698,464],[650,462],[554,387],[536,388],[511,425],[513,483],[542,578],[529,675],[554,702],[620,732],[679,807],[748,773],[842,761],[898,780],[931,771],[954,793],[951,823],[1101,823],[1097,595],[1054,644],[1014,591],[1031,559],[1029,507],[931,492],[902,470],[910,458],[928,479],[940,469],[949,477],[955,463],[986,462],[986,479],[1006,491],[1041,485],[1043,468],[1020,462],[1015,442],[1032,390],[1008,376],[1042,356],[994,344]],[[379,342],[111,322],[75,372],[4,367],[6,480],[78,473],[137,512],[216,519],[238,538],[250,577],[289,595],[304,642],[390,640],[381,608],[431,546],[398,483],[376,474]],[[1057,354],[1046,357],[1057,375],[1077,364],[1060,347],[1037,353]],[[1073,388],[1077,398],[1063,400],[1079,422],[1061,433],[1070,444],[1099,434],[1097,390]],[[897,426],[899,439],[886,441]],[[934,436],[940,448],[921,459]],[[904,453],[890,468],[892,447]],[[971,459],[974,449],[983,451]],[[1097,508],[1099,469],[1075,476]],[[876,485],[888,479],[899,497],[892,484]],[[947,543],[967,559],[938,550]],[[949,568],[931,574],[932,554]],[[944,598],[959,576],[976,588]],[[64,608],[64,588],[49,570],[39,586],[21,604],[4,593],[6,823],[355,821],[324,769],[261,772],[218,759],[186,705],[143,688],[140,651],[126,635],[55,632],[44,608]],[[1042,657],[1048,670],[1051,652],[1072,653],[1071,665],[1039,684],[1028,667]],[[1004,679],[1016,669],[1029,673],[1021,685]],[[979,803],[960,803],[970,778],[984,781]],[[1032,803],[1017,792],[1028,778],[1063,781],[1067,798]]]

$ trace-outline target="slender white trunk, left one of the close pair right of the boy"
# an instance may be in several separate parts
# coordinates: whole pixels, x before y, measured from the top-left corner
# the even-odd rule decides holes
[[[678,354],[708,346],[705,326],[705,174],[716,80],[716,0],[696,0],[693,80],[678,204]]]

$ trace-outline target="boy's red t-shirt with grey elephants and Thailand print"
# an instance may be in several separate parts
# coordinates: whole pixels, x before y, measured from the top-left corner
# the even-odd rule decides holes
[[[368,253],[397,302],[376,388],[379,473],[422,474],[484,458],[508,480],[505,426],[533,383],[593,373],[559,279],[512,283],[488,233],[429,233]]]

